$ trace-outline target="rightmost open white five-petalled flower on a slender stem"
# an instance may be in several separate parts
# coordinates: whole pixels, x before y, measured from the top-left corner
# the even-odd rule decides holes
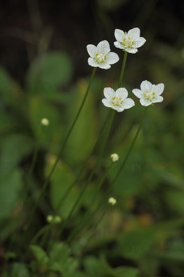
[[[152,85],[149,81],[143,81],[141,83],[141,89],[134,89],[132,92],[140,98],[140,103],[143,106],[149,106],[151,104],[162,102],[163,97],[160,96],[164,90],[164,84]]]

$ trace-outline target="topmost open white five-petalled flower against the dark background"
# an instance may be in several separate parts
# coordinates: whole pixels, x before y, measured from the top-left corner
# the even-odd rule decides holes
[[[141,47],[146,42],[145,38],[140,37],[139,28],[133,28],[128,31],[128,33],[116,29],[115,37],[117,41],[114,42],[114,45],[132,54],[137,53],[137,48]]]

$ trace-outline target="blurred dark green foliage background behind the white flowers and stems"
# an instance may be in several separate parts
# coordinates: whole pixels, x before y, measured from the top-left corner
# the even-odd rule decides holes
[[[2,276],[182,276],[182,6],[182,2],[158,0],[1,2]],[[109,112],[101,102],[103,89],[117,87],[123,61],[123,52],[114,46],[114,31],[134,27],[140,28],[146,43],[137,54],[128,54],[123,86],[136,105],[116,113],[95,176],[62,235],[57,238],[61,223],[47,237],[51,249],[45,243],[45,252],[39,247],[33,251],[29,243],[47,224],[46,217],[56,214],[67,218],[95,164],[103,141],[87,162],[85,158]],[[86,45],[105,39],[120,61],[107,71],[98,68],[45,197],[36,206],[34,220],[25,233],[93,70],[87,64]],[[81,250],[106,209],[104,193],[118,168],[111,168],[91,205],[98,180],[112,153],[118,153],[120,159],[125,157],[140,122],[144,107],[132,89],[139,88],[144,80],[165,84],[164,101],[149,107],[133,152],[109,195],[117,203]],[[48,126],[40,124],[42,118],[48,118]],[[56,209],[82,165],[80,180]],[[65,241],[99,202],[102,206],[90,222],[65,245],[70,250],[58,253],[54,240]]]

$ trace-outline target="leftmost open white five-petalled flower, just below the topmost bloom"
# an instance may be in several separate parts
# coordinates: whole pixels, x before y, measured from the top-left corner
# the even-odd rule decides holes
[[[114,64],[120,59],[116,53],[110,51],[110,45],[107,40],[101,41],[97,47],[93,44],[87,45],[87,52],[90,56],[88,64],[94,67],[109,69],[111,67],[110,64]]]

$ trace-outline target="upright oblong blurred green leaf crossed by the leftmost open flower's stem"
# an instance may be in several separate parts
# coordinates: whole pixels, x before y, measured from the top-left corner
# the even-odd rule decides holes
[[[74,89],[68,107],[68,123],[71,126],[83,100],[87,83],[81,81]],[[100,126],[101,127],[101,126]],[[93,91],[89,91],[85,104],[75,123],[67,143],[67,155],[71,160],[81,160],[90,152],[97,140],[97,115]]]

